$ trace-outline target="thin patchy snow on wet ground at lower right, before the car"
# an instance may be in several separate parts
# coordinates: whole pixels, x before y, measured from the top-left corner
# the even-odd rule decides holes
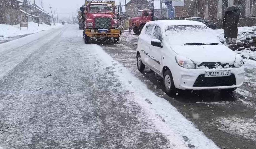
[[[219,125],[218,130],[220,131],[256,141],[255,119],[244,119],[237,116],[222,117],[216,120],[214,123]]]

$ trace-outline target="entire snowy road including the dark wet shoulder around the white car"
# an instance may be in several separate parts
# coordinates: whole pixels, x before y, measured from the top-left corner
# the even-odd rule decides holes
[[[65,25],[0,44],[0,148],[255,147],[255,94],[168,97],[121,39],[86,45]]]

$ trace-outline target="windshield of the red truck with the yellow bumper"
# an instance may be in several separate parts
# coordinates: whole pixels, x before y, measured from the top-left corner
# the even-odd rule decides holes
[[[113,13],[113,7],[109,5],[91,5],[90,13]]]

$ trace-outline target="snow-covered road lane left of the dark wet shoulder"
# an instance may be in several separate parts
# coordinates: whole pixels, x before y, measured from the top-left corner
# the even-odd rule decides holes
[[[81,30],[0,44],[0,148],[218,148]]]

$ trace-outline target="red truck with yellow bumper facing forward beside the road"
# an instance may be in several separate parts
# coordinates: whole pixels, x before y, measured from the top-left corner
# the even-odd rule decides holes
[[[121,29],[119,28],[118,13],[115,12],[114,0],[85,1],[83,10],[84,42],[88,43],[91,37],[105,37],[108,41],[113,37],[114,43],[119,41]]]

